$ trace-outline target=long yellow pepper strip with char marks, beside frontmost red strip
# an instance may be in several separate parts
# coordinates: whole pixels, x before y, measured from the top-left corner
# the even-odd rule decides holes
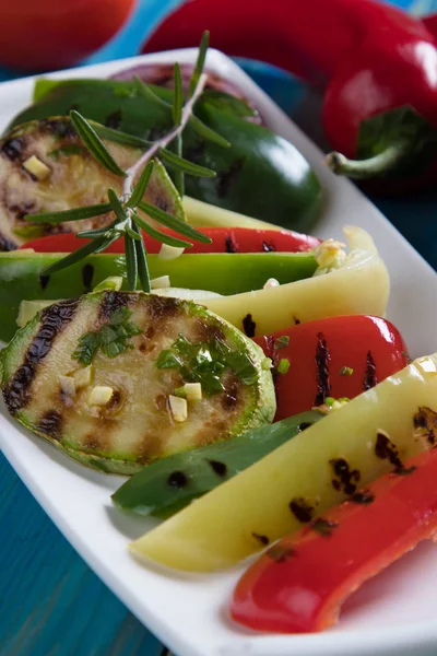
[[[359,395],[131,548],[178,570],[233,565],[382,473],[406,476],[402,461],[435,440],[433,426],[427,434],[417,425],[427,412],[435,420],[436,410],[437,353]]]

